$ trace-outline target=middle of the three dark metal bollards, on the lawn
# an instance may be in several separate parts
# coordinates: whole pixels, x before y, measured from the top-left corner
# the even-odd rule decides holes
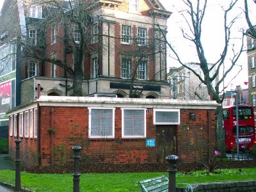
[[[74,146],[72,147],[72,150],[74,150],[74,173],[73,173],[73,192],[79,192],[79,182],[80,182],[80,173],[79,173],[79,152],[82,149],[80,146]]]

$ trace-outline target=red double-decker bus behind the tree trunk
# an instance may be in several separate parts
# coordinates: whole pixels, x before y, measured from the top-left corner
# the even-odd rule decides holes
[[[250,149],[255,140],[255,119],[253,107],[238,105],[239,150]],[[226,131],[226,150],[236,150],[236,106],[223,108],[223,126]]]

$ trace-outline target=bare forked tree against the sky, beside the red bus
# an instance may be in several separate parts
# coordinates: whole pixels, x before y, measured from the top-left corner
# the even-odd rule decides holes
[[[175,59],[179,61],[179,63],[188,68],[195,76],[205,84],[207,87],[207,92],[209,95],[211,95],[212,100],[216,100],[219,104],[223,102],[223,98],[220,97],[220,93],[224,93],[224,89],[227,88],[225,83],[225,79],[227,75],[232,71],[234,66],[237,63],[237,60],[239,59],[239,56],[241,55],[241,52],[243,51],[243,34],[241,34],[241,47],[238,51],[235,51],[234,46],[230,44],[232,40],[232,27],[234,26],[234,23],[237,20],[237,17],[234,17],[232,20],[228,21],[228,15],[232,8],[236,5],[238,0],[230,1],[228,4],[228,8],[223,8],[224,13],[224,32],[225,37],[223,39],[224,47],[221,51],[220,57],[216,58],[216,62],[211,63],[209,65],[207,56],[205,54],[205,47],[202,44],[202,22],[204,20],[205,12],[207,11],[207,0],[195,1],[196,3],[192,3],[190,0],[182,0],[182,2],[185,4],[186,9],[182,10],[181,15],[184,17],[184,20],[186,21],[186,24],[188,26],[188,31],[182,29],[183,38],[185,40],[188,40],[193,45],[195,45],[196,50],[196,62],[195,65],[200,66],[202,69],[202,72],[204,76],[200,76],[193,68],[186,65],[186,63],[182,60],[181,56],[177,53],[177,50],[173,47],[173,45],[165,39],[168,46],[172,50],[172,52],[175,55]],[[231,58],[228,58],[227,53],[228,51],[232,52]],[[230,60],[230,66],[225,65],[225,62],[227,60]],[[241,71],[241,69],[240,69]],[[239,72],[240,72],[239,71]],[[233,76],[233,79],[237,75]],[[218,79],[218,77],[220,77]],[[218,79],[218,81],[216,81]],[[212,81],[216,81],[215,86],[212,85]],[[232,80],[231,80],[232,81]],[[216,139],[218,142],[218,150],[225,154],[225,131],[223,129],[223,122],[222,122],[222,106],[219,106],[217,108],[217,118],[218,118],[218,126],[216,128]]]

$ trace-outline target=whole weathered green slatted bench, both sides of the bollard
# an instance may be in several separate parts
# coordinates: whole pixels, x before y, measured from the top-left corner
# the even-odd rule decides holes
[[[154,177],[152,179],[141,180],[138,182],[141,186],[142,192],[168,192],[169,179],[164,175]],[[185,186],[177,188],[177,191],[191,191],[193,188],[188,183],[180,183],[178,186]]]

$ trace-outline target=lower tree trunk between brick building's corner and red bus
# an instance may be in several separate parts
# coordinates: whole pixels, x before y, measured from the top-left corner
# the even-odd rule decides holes
[[[216,141],[217,149],[221,152],[222,156],[226,156],[226,147],[225,147],[225,136],[226,132],[223,127],[223,108],[222,105],[218,106],[216,109],[217,124],[216,124]]]

